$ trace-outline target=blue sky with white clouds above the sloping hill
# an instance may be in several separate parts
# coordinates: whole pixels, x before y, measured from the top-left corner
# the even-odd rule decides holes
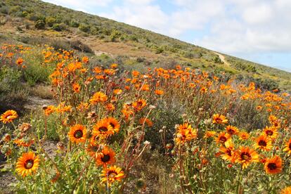
[[[44,0],[291,72],[290,0]]]

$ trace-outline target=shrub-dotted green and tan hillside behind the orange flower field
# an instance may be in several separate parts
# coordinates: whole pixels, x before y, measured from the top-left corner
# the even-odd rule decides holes
[[[73,11],[37,0],[0,3],[2,42],[13,39],[24,44],[50,44],[75,48],[97,56],[103,53],[122,63],[160,66],[179,63],[189,67],[257,82],[266,89],[291,90],[291,73],[247,60],[214,53],[162,34]],[[87,46],[79,46],[80,43]],[[224,56],[224,63],[221,60]]]

